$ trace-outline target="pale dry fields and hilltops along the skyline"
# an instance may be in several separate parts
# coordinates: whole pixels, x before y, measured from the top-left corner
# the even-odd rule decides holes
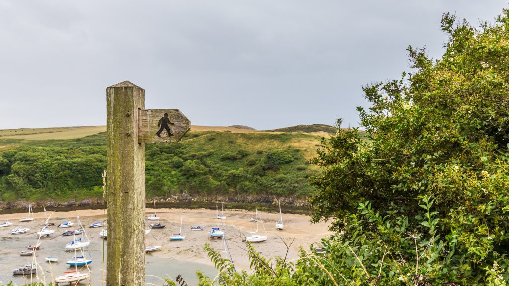
[[[0,129],[0,138],[16,138],[26,140],[73,139],[105,132],[106,126],[73,126],[48,128],[17,128]],[[326,124],[295,125],[272,130],[256,130],[245,125],[203,126],[191,125],[193,131],[222,131],[222,132],[305,132],[305,133],[335,133],[334,126]],[[1,150],[0,150],[1,151]]]

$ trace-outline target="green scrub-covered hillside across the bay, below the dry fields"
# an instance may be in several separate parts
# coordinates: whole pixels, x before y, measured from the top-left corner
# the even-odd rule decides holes
[[[307,178],[318,169],[309,159],[319,136],[204,129],[176,144],[147,144],[148,197],[304,197],[313,191]],[[101,198],[105,167],[104,132],[55,140],[0,136],[0,199]]]

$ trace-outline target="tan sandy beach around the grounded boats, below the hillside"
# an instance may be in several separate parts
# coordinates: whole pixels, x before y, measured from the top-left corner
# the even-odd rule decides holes
[[[146,209],[147,216],[153,213],[153,209]],[[49,215],[50,213],[48,212],[47,214]],[[11,227],[0,228],[0,237],[3,239],[26,240],[27,245],[35,243],[35,233],[39,230],[41,224],[44,223],[44,213],[35,213],[35,220],[32,222],[18,222],[20,218],[26,215],[27,213],[0,215],[0,222],[11,221],[14,223]],[[242,240],[244,236],[249,236],[249,232],[256,231],[256,223],[249,221],[249,218],[254,218],[256,214],[244,210],[225,209],[224,216],[226,216],[227,219],[218,220],[216,219],[216,215],[216,210],[210,209],[157,209],[157,216],[160,218],[158,222],[166,226],[162,229],[153,229],[146,236],[147,245],[161,245],[161,251],[152,252],[149,255],[153,255],[156,258],[168,258],[212,265],[203,248],[205,243],[208,242],[217,250],[224,249],[221,239],[212,239],[208,234],[211,228],[217,227],[219,223],[219,227],[224,228],[227,234],[227,244],[236,268],[240,270],[249,270],[248,256]],[[268,240],[261,243],[253,243],[252,245],[268,258],[285,256],[287,248],[283,241],[287,243],[294,241],[288,252],[288,259],[296,260],[298,258],[300,246],[304,247],[304,249],[309,249],[308,247],[310,244],[320,242],[322,238],[330,234],[328,231],[328,223],[311,224],[309,223],[309,217],[285,214],[284,208],[282,215],[285,229],[278,231],[275,228],[275,224],[279,220],[279,213],[259,212],[259,219],[261,218],[259,221],[263,221],[263,224],[259,223],[260,234],[268,236]],[[66,219],[55,220],[54,218],[56,217],[65,217]],[[49,238],[41,238],[42,243],[49,244],[62,239],[65,241],[69,240],[62,238],[61,234],[66,230],[72,230],[77,227],[62,229],[57,228],[56,225],[67,220],[76,222],[76,217],[79,217],[91,241],[102,244],[102,239],[99,237],[99,232],[102,228],[88,228],[88,226],[93,222],[103,220],[103,210],[76,210],[52,213],[50,222],[54,222],[55,226],[51,226],[51,228],[56,230],[56,232]],[[183,228],[186,238],[183,241],[170,241],[169,237],[179,232],[181,217],[183,217]],[[156,221],[155,223],[158,222]],[[150,223],[154,223],[154,221],[146,220],[146,229],[149,229]],[[223,225],[221,225],[221,223]],[[204,230],[191,231],[191,226],[197,225],[203,226]],[[11,230],[17,226],[28,227],[31,230],[20,236],[11,235]],[[264,226],[266,232],[264,231]],[[17,255],[19,256],[19,254]],[[227,258],[227,253],[223,252],[222,255]]]

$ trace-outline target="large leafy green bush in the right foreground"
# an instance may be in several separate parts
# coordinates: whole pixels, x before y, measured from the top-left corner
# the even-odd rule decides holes
[[[367,85],[361,128],[322,141],[312,220],[334,235],[300,259],[246,244],[252,272],[206,246],[222,285],[507,285],[509,18],[444,14],[441,59],[408,48],[412,73]],[[341,121],[338,122],[338,125]],[[199,275],[200,276],[200,275]],[[202,277],[203,283],[212,279]]]

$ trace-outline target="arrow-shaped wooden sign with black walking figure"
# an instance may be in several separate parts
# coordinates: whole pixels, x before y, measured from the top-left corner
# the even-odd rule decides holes
[[[190,128],[179,109],[138,110],[138,143],[177,142]]]

